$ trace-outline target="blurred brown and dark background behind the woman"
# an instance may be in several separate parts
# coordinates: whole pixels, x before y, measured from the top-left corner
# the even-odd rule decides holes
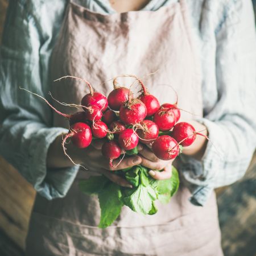
[[[0,39],[7,5],[0,0]],[[241,180],[216,192],[225,256],[256,256],[256,154]],[[0,256],[24,255],[34,198],[32,186],[0,156]]]

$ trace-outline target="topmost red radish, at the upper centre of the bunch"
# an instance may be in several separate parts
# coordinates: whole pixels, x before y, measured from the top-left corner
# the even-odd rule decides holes
[[[128,100],[129,89],[125,87],[117,87],[109,93],[108,102],[110,109],[119,110],[123,102]]]

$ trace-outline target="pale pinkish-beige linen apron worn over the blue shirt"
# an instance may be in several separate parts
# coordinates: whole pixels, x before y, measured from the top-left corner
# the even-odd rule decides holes
[[[199,55],[193,45],[184,1],[157,11],[131,11],[102,15],[70,2],[52,56],[52,80],[64,75],[82,77],[106,95],[111,82],[123,73],[144,77],[148,90],[161,101],[202,113]],[[123,82],[129,86],[127,80]],[[80,104],[86,85],[63,80],[52,85],[60,101]],[[67,113],[75,111],[60,107]],[[183,112],[183,120],[191,115]],[[55,115],[55,126],[68,127]],[[222,255],[214,193],[205,207],[196,207],[181,184],[170,204],[158,204],[153,216],[124,207],[106,229],[98,229],[100,207],[96,196],[86,196],[77,186],[90,172],[80,171],[64,199],[36,197],[27,237],[27,255]]]

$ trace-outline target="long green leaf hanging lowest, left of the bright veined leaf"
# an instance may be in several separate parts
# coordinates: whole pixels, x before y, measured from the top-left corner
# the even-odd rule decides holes
[[[119,216],[123,203],[121,200],[121,190],[119,185],[111,183],[98,194],[101,207],[101,220],[99,228],[107,228]]]

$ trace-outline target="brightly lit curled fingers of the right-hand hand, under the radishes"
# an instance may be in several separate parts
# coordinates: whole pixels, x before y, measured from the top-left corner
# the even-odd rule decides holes
[[[146,145],[139,144],[142,150],[139,150],[142,162],[141,165],[150,169],[148,174],[156,180],[170,179],[172,176],[172,162],[164,161],[156,157],[156,155]],[[163,170],[160,172],[160,170]]]

